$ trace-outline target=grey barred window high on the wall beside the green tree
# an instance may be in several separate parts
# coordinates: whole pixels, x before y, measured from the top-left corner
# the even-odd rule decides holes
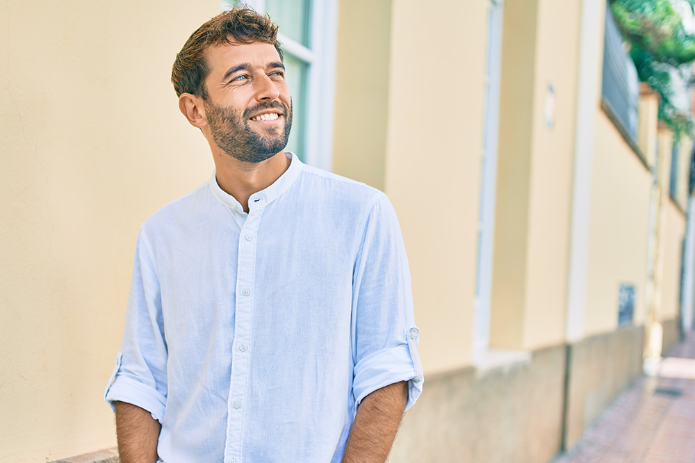
[[[603,47],[604,103],[618,119],[628,136],[637,140],[637,105],[639,102],[639,79],[632,58],[623,45],[613,15],[606,6],[605,45]],[[615,121],[614,121],[615,122]]]

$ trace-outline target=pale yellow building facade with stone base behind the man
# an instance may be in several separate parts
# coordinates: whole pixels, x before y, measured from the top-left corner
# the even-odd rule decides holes
[[[605,95],[605,0],[302,4],[296,146],[389,195],[411,266],[425,387],[389,461],[550,462],[678,341],[692,140]],[[138,229],[213,168],[171,64],[219,11],[1,9],[0,462],[115,446]]]

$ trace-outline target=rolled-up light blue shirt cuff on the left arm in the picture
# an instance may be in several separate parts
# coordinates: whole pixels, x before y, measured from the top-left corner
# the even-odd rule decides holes
[[[106,391],[104,391],[104,400],[111,405],[114,412],[116,411],[116,401],[137,405],[150,412],[153,419],[162,423],[167,398],[147,384],[127,375],[119,374],[121,357],[121,353],[118,352],[116,366],[113,368],[111,379],[108,381]]]

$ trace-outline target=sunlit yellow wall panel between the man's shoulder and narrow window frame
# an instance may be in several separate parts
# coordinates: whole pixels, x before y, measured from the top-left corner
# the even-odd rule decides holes
[[[426,373],[471,362],[486,24],[485,2],[393,0],[386,193]]]

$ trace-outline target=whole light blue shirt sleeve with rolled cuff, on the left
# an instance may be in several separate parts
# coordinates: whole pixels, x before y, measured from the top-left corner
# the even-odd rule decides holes
[[[161,291],[145,237],[140,230],[121,350],[104,400],[131,403],[160,423],[167,401],[167,345]]]

